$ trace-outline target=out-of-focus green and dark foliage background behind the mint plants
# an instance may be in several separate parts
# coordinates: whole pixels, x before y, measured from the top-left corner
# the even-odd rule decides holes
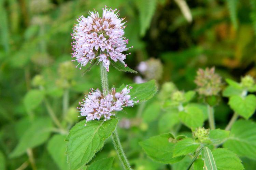
[[[194,89],[199,67],[215,66],[224,79],[239,81],[245,74],[256,76],[255,0],[187,0],[189,8],[179,2],[0,0],[0,169],[67,168],[64,139],[73,124],[84,119],[77,118],[78,102],[90,88],[101,86],[99,67],[82,76],[86,68],[76,69],[70,54],[70,33],[76,18],[87,16],[93,9],[101,11],[107,5],[120,10],[120,17],[127,21],[128,46],[134,47],[126,63],[137,70],[141,61],[159,59],[163,65],[159,89],[169,81],[180,90]],[[184,17],[190,13],[192,21]],[[135,76],[111,67],[109,83],[118,87],[132,83]],[[134,120],[140,112],[138,106],[118,114],[120,120],[133,121],[128,128],[120,128],[119,134],[134,169],[171,169],[151,161],[138,145],[142,139],[166,131],[159,130],[159,115],[147,108],[154,100],[146,103],[142,123]],[[216,107],[219,128],[232,115],[226,103],[227,98],[223,98]],[[59,125],[49,119],[52,114]],[[182,130],[189,131],[185,127]],[[17,149],[21,141],[28,146]],[[120,169],[111,140],[95,159],[109,156],[115,157],[114,168]],[[246,163],[256,164],[243,161],[245,168]]]

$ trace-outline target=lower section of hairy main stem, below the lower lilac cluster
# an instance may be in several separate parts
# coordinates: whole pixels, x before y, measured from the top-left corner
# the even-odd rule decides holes
[[[114,130],[112,133],[112,140],[116,149],[116,152],[118,154],[119,160],[122,162],[123,167],[125,170],[131,170],[130,164],[128,162],[128,159],[125,156],[125,153],[123,151],[122,145],[120,143],[117,130]]]

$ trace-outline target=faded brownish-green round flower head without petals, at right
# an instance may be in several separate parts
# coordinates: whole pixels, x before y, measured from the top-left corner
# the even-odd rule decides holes
[[[198,69],[195,83],[197,91],[203,96],[216,96],[221,91],[221,77],[214,73],[215,68]]]

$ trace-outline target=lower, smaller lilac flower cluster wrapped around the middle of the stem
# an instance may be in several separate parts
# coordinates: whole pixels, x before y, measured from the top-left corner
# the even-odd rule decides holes
[[[130,99],[129,95],[132,87],[127,86],[121,91],[116,92],[115,88],[112,88],[110,94],[104,96],[99,89],[91,89],[91,92],[85,96],[85,100],[80,102],[79,112],[81,116],[86,116],[86,121],[110,119],[110,116],[115,115],[115,111],[121,111],[123,107],[133,106],[134,103],[139,102],[133,101],[135,98]]]

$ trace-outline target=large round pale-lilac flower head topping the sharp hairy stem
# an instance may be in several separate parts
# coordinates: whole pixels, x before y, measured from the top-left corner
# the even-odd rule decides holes
[[[127,66],[124,60],[128,54],[122,53],[129,49],[126,47],[128,39],[123,36],[126,27],[125,22],[122,23],[124,19],[119,18],[119,11],[116,9],[105,6],[102,10],[102,17],[96,11],[89,12],[87,18],[81,16],[73,28],[72,57],[76,58],[73,61],[79,63],[76,67],[80,65],[80,69],[94,59],[103,62],[107,71],[110,60],[120,61]]]

